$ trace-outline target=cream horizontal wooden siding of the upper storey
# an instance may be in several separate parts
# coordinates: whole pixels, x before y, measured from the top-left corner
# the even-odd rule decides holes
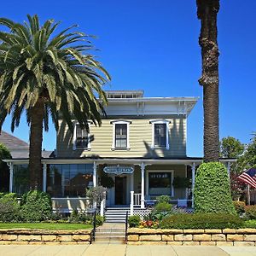
[[[73,133],[67,125],[59,121],[60,129],[57,133],[57,156],[58,157],[157,157],[157,156],[185,156],[186,155],[186,119],[167,119],[169,124],[169,149],[151,148],[152,124],[149,119],[127,119],[130,124],[130,149],[114,149],[113,124],[117,119],[103,119],[102,126],[90,125],[90,135],[94,141],[90,143],[91,150],[77,148],[73,150]]]

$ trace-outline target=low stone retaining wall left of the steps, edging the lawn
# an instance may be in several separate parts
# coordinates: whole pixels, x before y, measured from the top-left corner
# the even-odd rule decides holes
[[[0,245],[90,244],[92,230],[0,230]]]

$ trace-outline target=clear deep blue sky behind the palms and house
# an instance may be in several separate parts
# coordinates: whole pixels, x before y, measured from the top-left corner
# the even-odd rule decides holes
[[[220,138],[233,136],[248,143],[256,131],[256,1],[220,1]],[[145,96],[200,96],[189,116],[188,155],[202,155],[203,116],[200,21],[195,1],[94,0],[3,1],[1,16],[15,21],[26,14],[61,20],[61,28],[97,36],[98,60],[112,76],[106,90],[143,89]],[[9,118],[3,130],[10,131]],[[15,136],[28,142],[22,119]],[[55,128],[44,133],[43,148],[55,148]]]

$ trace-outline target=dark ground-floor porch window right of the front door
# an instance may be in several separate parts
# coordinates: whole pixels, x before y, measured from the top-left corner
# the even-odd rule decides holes
[[[172,195],[172,172],[148,172],[149,195]]]

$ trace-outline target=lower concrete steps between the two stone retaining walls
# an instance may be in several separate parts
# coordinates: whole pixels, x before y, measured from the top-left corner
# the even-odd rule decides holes
[[[125,243],[125,224],[103,224],[96,228],[94,243],[123,244]]]

